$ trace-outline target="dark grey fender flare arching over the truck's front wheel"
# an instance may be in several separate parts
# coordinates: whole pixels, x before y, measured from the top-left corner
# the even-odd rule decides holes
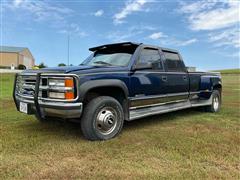
[[[128,88],[124,82],[119,79],[102,79],[91,80],[80,85],[79,87],[79,101],[83,101],[86,93],[94,88],[100,87],[118,87],[123,90],[125,98],[128,99]]]

